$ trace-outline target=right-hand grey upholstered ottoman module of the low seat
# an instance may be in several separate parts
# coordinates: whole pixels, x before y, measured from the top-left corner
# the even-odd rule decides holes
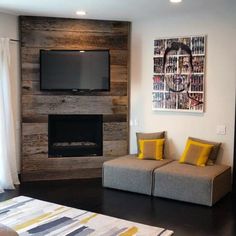
[[[231,168],[173,161],[154,171],[153,195],[212,206],[231,190]]]

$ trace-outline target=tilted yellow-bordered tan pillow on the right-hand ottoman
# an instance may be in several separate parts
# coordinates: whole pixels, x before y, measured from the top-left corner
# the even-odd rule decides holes
[[[212,148],[213,145],[188,139],[179,162],[196,166],[205,166]]]

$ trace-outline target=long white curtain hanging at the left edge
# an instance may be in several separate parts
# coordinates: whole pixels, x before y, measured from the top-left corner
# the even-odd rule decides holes
[[[19,184],[10,80],[10,40],[0,38],[0,192]]]

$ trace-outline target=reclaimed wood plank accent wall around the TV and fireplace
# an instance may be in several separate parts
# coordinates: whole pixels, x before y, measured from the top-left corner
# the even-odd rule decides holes
[[[128,153],[130,23],[20,16],[22,181],[101,177],[105,160]],[[40,49],[109,49],[111,90],[40,91]],[[48,157],[49,114],[102,114],[103,156]]]

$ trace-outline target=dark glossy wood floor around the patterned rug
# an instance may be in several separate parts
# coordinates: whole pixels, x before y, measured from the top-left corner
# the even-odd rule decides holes
[[[101,179],[90,179],[23,183],[0,194],[0,201],[19,195],[172,229],[175,236],[236,235],[236,204],[231,194],[205,207],[104,189]]]

